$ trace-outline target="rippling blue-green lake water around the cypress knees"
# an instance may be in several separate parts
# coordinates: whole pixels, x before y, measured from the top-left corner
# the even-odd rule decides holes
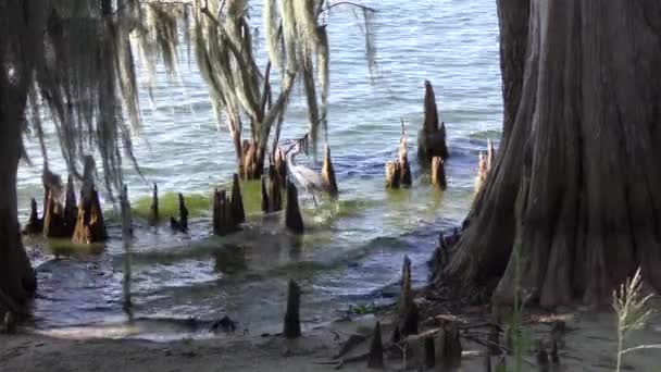
[[[135,153],[148,182],[159,184],[162,213],[174,211],[176,193],[186,195],[194,216],[190,234],[173,234],[166,225],[149,228],[136,219],[130,317],[123,309],[126,257],[110,204],[110,240],[104,246],[72,251],[59,249],[57,243],[27,239],[39,280],[35,326],[60,334],[162,339],[208,335],[209,323],[227,314],[241,330],[275,332],[289,278],[303,288],[305,326],[327,321],[349,306],[392,300],[389,288],[399,280],[404,255],[413,261],[416,285],[424,284],[438,232],[460,224],[467,212],[478,152],[486,149],[487,139],[499,137],[496,2],[363,3],[378,10],[378,75],[374,82],[370,78],[360,22],[350,9],[336,8],[328,20],[328,136],[341,194],[339,201],[324,200],[315,207],[302,193],[308,227],[302,239],[285,232],[280,215],[262,215],[255,183],[242,186],[249,214],[244,231],[224,238],[211,234],[209,198],[215,187],[230,181],[235,156],[226,131],[216,128],[195,62],[189,66],[183,59],[182,86],[161,73],[155,107],[142,97],[144,129]],[[258,15],[259,10],[255,3],[252,13]],[[258,17],[252,22],[261,27]],[[425,79],[434,84],[451,151],[448,190],[442,194],[429,186],[428,174],[415,163]],[[284,138],[305,133],[303,102],[297,91]],[[411,189],[386,191],[384,164],[396,157],[402,117],[410,134],[414,184]],[[51,168],[65,175],[52,133],[47,141]],[[37,142],[27,146],[33,162],[40,164]],[[40,166],[20,169],[23,218],[29,198],[41,200],[40,172]],[[127,170],[137,214],[149,206],[149,183]],[[54,251],[62,253],[59,260]]]

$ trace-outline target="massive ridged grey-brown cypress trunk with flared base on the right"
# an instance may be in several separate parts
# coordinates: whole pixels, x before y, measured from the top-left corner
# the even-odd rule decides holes
[[[661,289],[661,2],[498,9],[503,138],[447,274],[500,277],[496,303],[517,266],[547,307],[608,301],[638,265]]]

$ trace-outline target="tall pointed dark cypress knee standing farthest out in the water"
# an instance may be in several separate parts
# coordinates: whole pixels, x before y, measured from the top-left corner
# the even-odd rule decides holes
[[[425,80],[425,117],[422,129],[417,135],[417,159],[423,164],[429,164],[432,158],[448,159],[445,123],[438,127],[438,109],[432,83]]]

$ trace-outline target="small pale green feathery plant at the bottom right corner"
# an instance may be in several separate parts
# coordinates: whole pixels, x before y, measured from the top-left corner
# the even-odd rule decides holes
[[[615,371],[622,368],[622,356],[639,349],[661,349],[659,345],[639,345],[624,349],[624,340],[632,331],[639,330],[647,323],[653,311],[648,308],[647,302],[652,297],[643,296],[643,281],[640,269],[636,270],[633,277],[627,278],[620,288],[613,290],[613,308],[618,314],[618,364]]]

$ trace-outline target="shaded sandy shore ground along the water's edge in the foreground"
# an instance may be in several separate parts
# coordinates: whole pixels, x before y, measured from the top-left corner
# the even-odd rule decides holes
[[[390,337],[392,324],[386,314],[378,317],[383,323],[384,343]],[[471,324],[478,317],[462,315],[459,322]],[[560,365],[547,371],[613,371],[615,364],[615,331],[613,314],[574,311],[565,314],[529,314],[525,334],[537,339],[549,336],[549,320],[562,319],[568,332],[560,350]],[[215,339],[155,343],[135,339],[66,339],[39,335],[21,330],[18,335],[0,336],[0,371],[334,371],[336,364],[322,364],[338,352],[352,334],[370,335],[376,318],[366,315],[353,321],[334,322],[305,332],[296,340],[280,336],[233,335]],[[429,328],[432,326],[427,326]],[[486,330],[472,328],[473,335]],[[481,333],[482,332],[482,333]],[[367,350],[370,339],[353,348],[345,358],[361,356]],[[462,337],[466,357],[463,371],[484,371],[485,347]],[[637,331],[627,347],[639,344],[661,343],[661,320],[656,319],[644,330]],[[534,344],[534,343],[531,343]],[[408,356],[408,370],[419,371],[422,345],[412,343]],[[479,355],[482,354],[482,355]],[[496,361],[496,357],[492,358]],[[365,361],[350,362],[345,371],[366,370]],[[403,370],[401,358],[386,360],[387,370]],[[624,371],[661,372],[661,350],[635,351],[624,357]],[[509,361],[508,370],[513,370]],[[536,365],[533,351],[525,355],[524,371],[542,371]]]

